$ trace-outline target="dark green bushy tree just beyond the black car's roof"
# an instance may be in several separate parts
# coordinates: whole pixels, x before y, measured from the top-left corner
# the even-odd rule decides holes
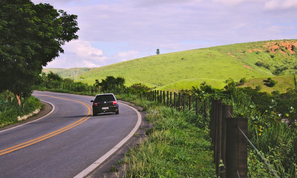
[[[123,77],[113,77],[106,76],[105,79],[102,79],[99,82],[98,79],[95,80],[94,86],[101,87],[103,91],[111,91],[115,88],[124,88],[125,79]]]

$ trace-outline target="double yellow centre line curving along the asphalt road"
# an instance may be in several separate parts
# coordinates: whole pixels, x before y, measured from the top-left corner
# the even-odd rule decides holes
[[[73,127],[76,127],[76,126],[80,125],[81,123],[85,122],[86,120],[88,120],[91,117],[91,106],[84,103],[84,102],[81,102],[81,101],[78,101],[78,100],[73,100],[73,99],[61,98],[61,97],[57,97],[57,96],[49,96],[49,95],[41,95],[41,94],[36,94],[36,95],[48,96],[48,97],[53,97],[53,98],[59,98],[59,99],[65,99],[65,100],[69,100],[69,101],[78,102],[78,103],[83,104],[84,106],[86,106],[88,108],[88,114],[85,117],[81,118],[80,120],[78,120],[78,121],[76,121],[76,122],[74,122],[74,123],[72,123],[70,125],[67,125],[66,127],[63,127],[63,128],[61,128],[59,130],[56,130],[56,131],[53,131],[53,132],[51,132],[49,134],[40,136],[40,137],[38,137],[36,139],[32,139],[32,140],[29,140],[27,142],[15,145],[13,147],[6,148],[4,150],[0,150],[0,156],[5,155],[5,154],[10,153],[10,152],[13,152],[15,150],[19,150],[19,149],[24,148],[24,147],[28,147],[28,146],[30,146],[32,144],[41,142],[42,140],[48,139],[48,138],[53,137],[55,135],[61,134],[61,133],[65,132],[65,131],[68,131],[69,129],[71,129]]]

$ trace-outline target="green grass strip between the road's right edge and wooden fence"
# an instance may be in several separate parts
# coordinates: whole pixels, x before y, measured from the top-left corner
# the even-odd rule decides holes
[[[117,97],[144,107],[146,119],[154,123],[146,131],[148,139],[121,161],[128,165],[124,177],[215,177],[208,129],[197,124],[201,117],[133,95]]]

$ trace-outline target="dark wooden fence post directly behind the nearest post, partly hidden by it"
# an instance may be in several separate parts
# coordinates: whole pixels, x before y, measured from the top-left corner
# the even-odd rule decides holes
[[[226,118],[233,116],[233,106],[232,105],[222,105],[222,147],[221,147],[221,159],[223,164],[226,167]],[[221,178],[226,178],[226,169],[222,166],[221,169]]]

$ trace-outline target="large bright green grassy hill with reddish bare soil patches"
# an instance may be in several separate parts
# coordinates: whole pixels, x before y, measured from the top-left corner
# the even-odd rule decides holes
[[[202,81],[222,88],[229,77],[236,81],[245,77],[253,87],[256,81],[261,83],[267,77],[294,74],[296,66],[297,40],[270,40],[153,55],[94,68],[79,77],[93,84],[95,79],[108,75],[121,76],[127,86],[143,83],[159,90],[177,91],[198,86]],[[270,89],[284,91],[291,84],[278,89],[280,83]]]

